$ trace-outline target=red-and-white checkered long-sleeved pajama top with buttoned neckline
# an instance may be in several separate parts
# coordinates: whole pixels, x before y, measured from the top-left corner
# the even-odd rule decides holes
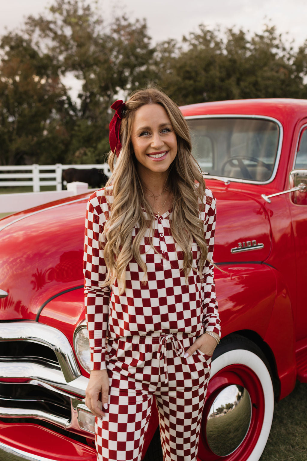
[[[166,212],[155,220],[155,247],[145,234],[140,254],[147,266],[148,282],[142,282],[144,272],[135,260],[126,270],[126,289],[119,295],[115,282],[111,288],[99,287],[106,274],[104,250],[99,241],[104,223],[109,218],[113,201],[112,186],[97,190],[87,203],[84,243],[85,306],[90,338],[91,368],[103,370],[105,366],[106,338],[146,335],[152,331],[176,333],[182,331],[200,336],[204,330],[220,335],[220,319],[215,298],[213,265],[216,202],[206,189],[205,209],[200,213],[204,235],[208,244],[208,260],[203,268],[203,279],[191,270],[185,282],[183,253],[171,235],[172,213]],[[133,229],[136,235],[137,225]],[[199,248],[192,244],[193,267],[197,267]]]

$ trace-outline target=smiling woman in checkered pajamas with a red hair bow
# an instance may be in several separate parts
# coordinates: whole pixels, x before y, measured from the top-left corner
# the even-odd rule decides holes
[[[112,176],[89,199],[85,236],[98,460],[141,459],[155,399],[164,461],[193,461],[220,340],[215,200],[167,95],[139,90],[112,108]]]

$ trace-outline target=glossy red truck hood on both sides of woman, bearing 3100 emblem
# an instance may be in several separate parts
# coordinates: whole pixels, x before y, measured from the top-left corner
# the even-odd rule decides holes
[[[271,239],[262,205],[236,191],[214,189],[214,195],[214,261],[265,260]],[[87,198],[66,199],[0,220],[0,289],[9,293],[0,300],[0,320],[35,319],[53,296],[82,287]],[[240,246],[243,251],[233,250]],[[80,306],[77,310],[79,315]]]

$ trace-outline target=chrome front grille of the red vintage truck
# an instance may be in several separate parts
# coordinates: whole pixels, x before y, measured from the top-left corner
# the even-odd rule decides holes
[[[0,322],[0,418],[41,420],[90,437],[93,430],[79,424],[79,414],[90,413],[87,383],[61,331],[32,321]]]

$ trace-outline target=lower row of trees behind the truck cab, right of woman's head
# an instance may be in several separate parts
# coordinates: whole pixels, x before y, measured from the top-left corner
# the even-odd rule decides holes
[[[183,37],[181,44],[159,44],[157,82],[179,104],[239,98],[306,98],[306,46],[298,52],[275,27],[250,39],[240,29],[209,30]]]

